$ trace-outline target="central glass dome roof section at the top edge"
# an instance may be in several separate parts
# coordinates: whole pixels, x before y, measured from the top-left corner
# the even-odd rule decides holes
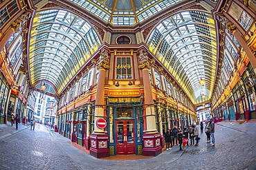
[[[134,25],[183,0],[69,0],[85,10],[113,23]]]

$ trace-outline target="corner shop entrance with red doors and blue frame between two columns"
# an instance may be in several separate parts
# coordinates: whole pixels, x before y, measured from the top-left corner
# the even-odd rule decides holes
[[[110,154],[142,154],[143,105],[140,97],[109,98],[108,105]]]

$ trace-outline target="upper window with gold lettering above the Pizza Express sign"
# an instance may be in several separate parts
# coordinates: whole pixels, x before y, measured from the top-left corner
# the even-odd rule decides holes
[[[131,78],[131,58],[116,58],[116,79]]]

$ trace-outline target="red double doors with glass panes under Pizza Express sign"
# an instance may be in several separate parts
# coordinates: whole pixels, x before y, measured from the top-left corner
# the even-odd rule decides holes
[[[116,121],[116,154],[135,154],[134,120]]]

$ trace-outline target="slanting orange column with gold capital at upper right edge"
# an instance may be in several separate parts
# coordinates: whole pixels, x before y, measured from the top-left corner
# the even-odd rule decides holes
[[[242,36],[237,32],[237,28],[234,24],[228,25],[228,32],[230,34],[233,34],[237,41],[240,43],[241,47],[244,49],[244,52],[246,52],[246,56],[248,57],[250,63],[253,66],[253,70],[256,73],[256,59],[253,55],[253,52],[250,50],[250,47],[248,47],[246,41],[242,38]]]

